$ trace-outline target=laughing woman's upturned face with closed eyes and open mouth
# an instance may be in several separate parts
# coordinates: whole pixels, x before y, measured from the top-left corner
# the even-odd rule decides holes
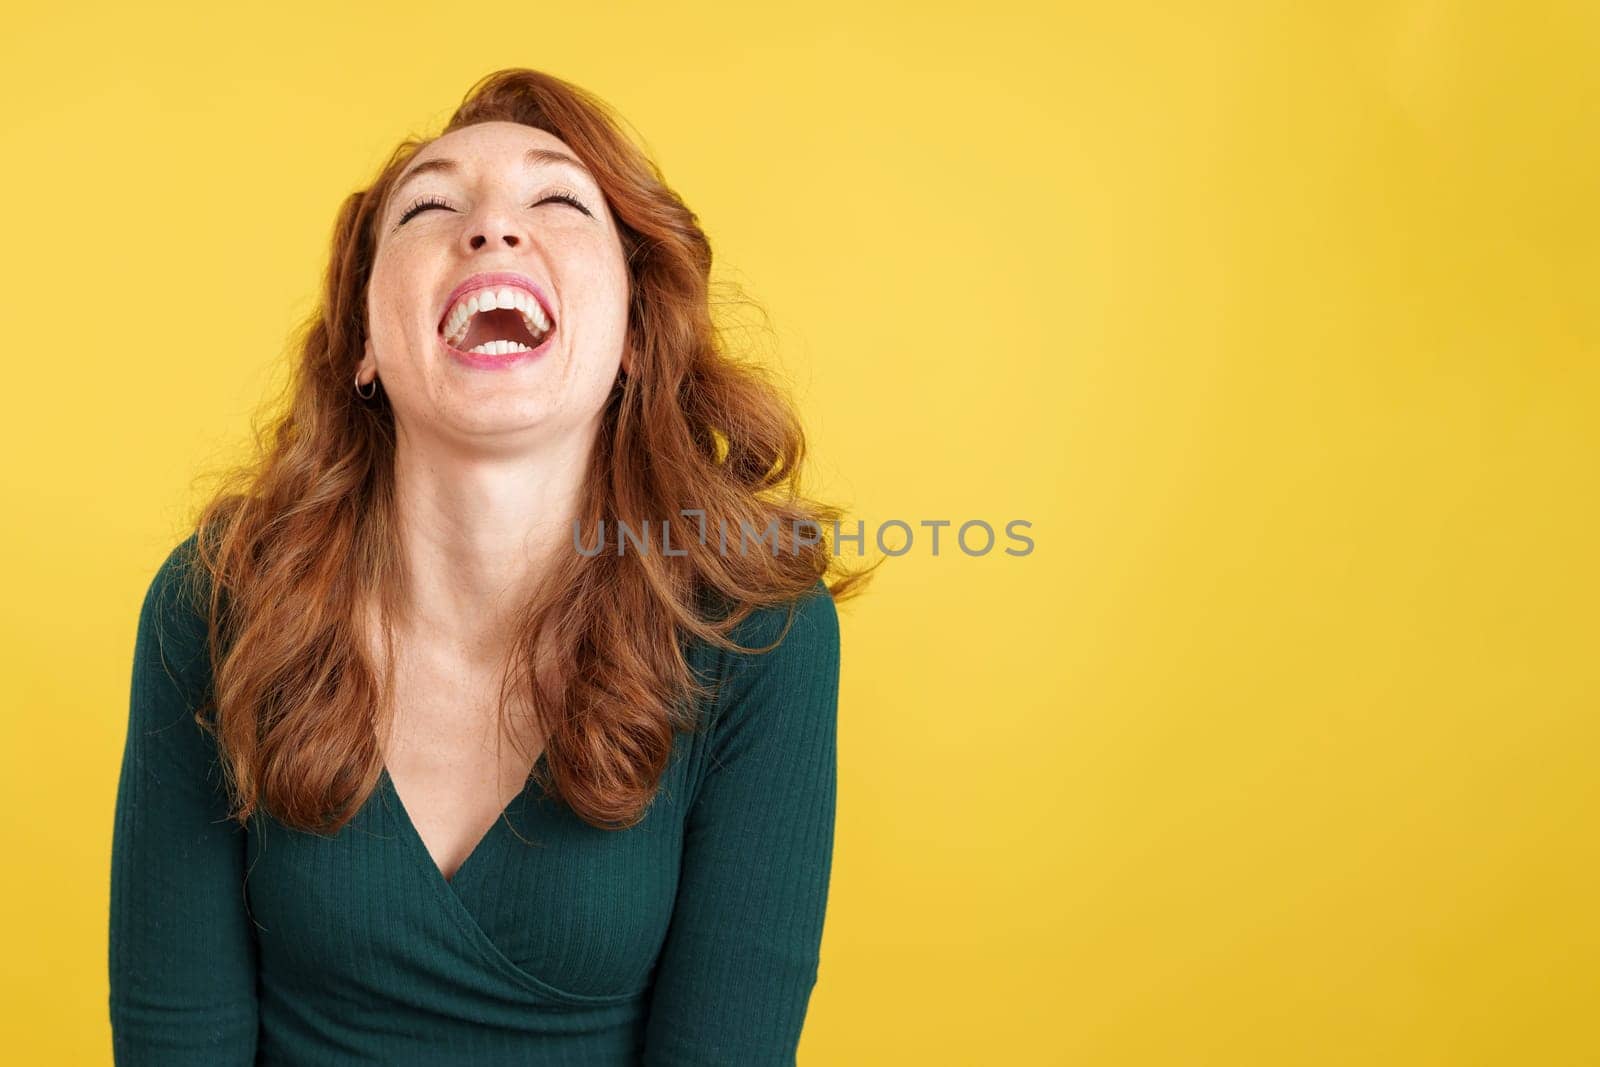
[[[480,451],[592,440],[618,366],[629,368],[629,277],[611,210],[576,154],[520,123],[454,130],[406,163],[378,226],[355,378],[365,387],[378,376],[402,437]],[[520,275],[544,296],[552,333],[531,358],[488,368],[456,354],[488,334],[533,339],[514,309],[475,315],[459,349],[446,341],[451,294],[486,272]]]

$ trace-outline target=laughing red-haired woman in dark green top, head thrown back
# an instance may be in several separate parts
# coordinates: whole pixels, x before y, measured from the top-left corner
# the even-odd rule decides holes
[[[118,1064],[794,1062],[867,574],[824,584],[709,270],[533,70],[346,200],[285,414],[141,611]]]

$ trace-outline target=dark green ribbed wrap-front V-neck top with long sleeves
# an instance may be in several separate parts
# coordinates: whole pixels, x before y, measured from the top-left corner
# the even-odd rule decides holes
[[[446,880],[387,773],[333,835],[229,805],[197,534],[150,581],[110,861],[120,1067],[794,1064],[821,957],[838,617],[819,581],[686,646],[709,726],[645,817],[582,822],[530,777]],[[790,622],[784,633],[786,622]],[[544,761],[544,757],[539,758]]]

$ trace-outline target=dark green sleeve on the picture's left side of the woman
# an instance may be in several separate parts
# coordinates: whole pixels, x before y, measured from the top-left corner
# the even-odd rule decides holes
[[[182,589],[194,547],[190,534],[157,571],[134,638],[110,859],[118,1067],[227,1067],[256,1056],[245,832],[227,817],[216,742],[194,718],[210,685],[205,621]]]

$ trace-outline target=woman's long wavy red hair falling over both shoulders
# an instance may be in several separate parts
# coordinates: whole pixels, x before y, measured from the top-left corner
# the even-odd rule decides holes
[[[499,689],[502,737],[522,737],[504,729],[512,696],[536,717],[541,785],[586,822],[626,829],[656,793],[674,731],[702,725],[691,709],[707,689],[685,643],[760,651],[730,638],[752,611],[792,603],[819,579],[842,600],[875,568],[845,573],[834,557],[826,531],[842,512],[800,493],[805,437],[794,411],[714,323],[710,243],[610,107],[549,74],[507,69],[472,86],[442,133],[491,120],[544,130],[579,157],[616,218],[632,280],[632,365],[606,400],[578,504],[581,530],[605,531],[603,550],[555,555],[518,605]],[[402,142],[378,179],[344,200],[285,395],[254,422],[250,462],[222,474],[195,520],[192,589],[213,664],[197,720],[218,739],[240,822],[264,809],[286,825],[338,830],[382,773],[392,621],[408,576],[394,410],[382,390],[362,400],[352,382],[376,226],[395,178],[429,142]],[[776,528],[784,550],[718,550],[702,522],[749,523],[763,536]],[[669,523],[685,555],[640,552],[637,537],[622,552],[619,523],[635,534]],[[384,670],[366,643],[368,603],[390,651]]]

